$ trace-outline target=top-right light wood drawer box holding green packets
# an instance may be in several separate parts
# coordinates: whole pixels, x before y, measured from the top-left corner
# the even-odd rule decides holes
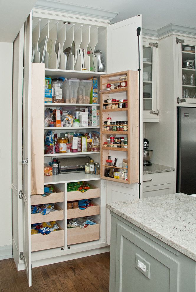
[[[92,189],[87,190],[85,193],[79,191],[67,192],[67,201],[78,201],[84,199],[93,199],[100,197],[100,189],[92,186]]]

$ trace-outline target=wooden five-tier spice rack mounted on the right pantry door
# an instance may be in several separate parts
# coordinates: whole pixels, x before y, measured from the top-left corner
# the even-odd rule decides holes
[[[127,87],[117,88],[106,90],[106,85],[108,83],[109,78],[116,78],[115,80],[119,80],[120,76],[127,77]],[[111,83],[118,82],[112,81]],[[138,169],[139,169],[139,98],[138,98],[138,72],[137,71],[123,71],[117,72],[107,75],[102,75],[100,78],[100,124],[101,124],[101,178],[109,180],[109,181],[118,181],[120,183],[137,183],[138,182]],[[113,94],[112,97],[109,97],[109,94]],[[122,96],[123,95],[123,96]],[[119,109],[103,109],[104,100],[112,98],[112,99],[127,99],[127,107],[119,108]],[[119,114],[117,114],[119,112]],[[104,130],[104,121],[107,120],[107,117],[112,117],[112,121],[119,120],[119,116],[121,119],[126,120],[128,122],[127,131],[105,131]],[[108,135],[117,135],[122,134],[127,136],[128,145],[127,148],[121,147],[109,147],[104,144],[107,142]],[[116,151],[116,152],[114,152]],[[115,156],[114,156],[115,153]],[[119,154],[118,154],[119,153]],[[125,157],[122,156],[124,153]],[[106,167],[106,159],[108,156],[118,158],[117,166],[115,168],[118,169],[126,169],[118,167],[119,163],[122,163],[122,157],[127,159],[128,162],[128,180],[124,181],[122,179],[105,177],[105,167]],[[113,167],[113,166],[110,166]]]

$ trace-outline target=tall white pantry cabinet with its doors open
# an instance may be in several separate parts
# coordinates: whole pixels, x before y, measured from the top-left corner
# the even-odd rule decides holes
[[[33,17],[32,17],[33,14]],[[41,20],[40,20],[41,19]],[[98,27],[98,28],[97,28]],[[141,33],[137,35],[137,28],[141,29]],[[139,30],[138,30],[139,32]],[[24,42],[24,87],[23,87],[23,132],[22,132],[22,78],[23,78],[23,56],[22,47],[23,40],[22,35],[25,34]],[[135,70],[138,71],[141,68],[140,74],[142,76],[142,17],[136,16],[122,22],[110,25],[103,19],[92,19],[92,17],[84,17],[76,15],[63,14],[63,13],[53,13],[51,11],[35,10],[29,15],[27,21],[25,22],[25,30],[21,29],[17,39],[14,42],[16,59],[14,56],[14,64],[16,68],[14,69],[14,74],[18,72],[18,79],[16,80],[16,89],[13,95],[13,100],[18,104],[19,111],[15,111],[13,116],[13,123],[16,123],[16,131],[18,134],[17,143],[15,147],[18,147],[19,152],[14,154],[13,160],[17,160],[17,165],[14,165],[13,170],[13,189],[15,194],[13,194],[13,255],[14,261],[17,265],[18,270],[26,269],[27,276],[29,280],[29,285],[31,286],[31,267],[36,267],[40,265],[55,263],[64,260],[70,260],[77,257],[84,257],[87,255],[93,255],[100,252],[105,252],[109,250],[109,246],[106,242],[106,237],[108,232],[110,232],[110,227],[108,228],[107,222],[110,218],[106,218],[106,203],[111,200],[117,200],[118,194],[112,193],[112,189],[115,188],[116,182],[111,182],[111,186],[108,188],[107,192],[107,180],[101,179],[99,175],[85,175],[85,173],[77,173],[76,176],[73,174],[61,174],[56,176],[43,177],[43,160],[48,162],[50,157],[43,154],[43,112],[44,112],[44,77],[66,77],[66,78],[79,78],[88,79],[90,77],[99,77],[104,73],[97,71],[97,62],[95,61],[95,71],[81,71],[81,63],[74,64],[74,58],[70,59],[68,67],[65,69],[64,60],[60,62],[59,69],[57,69],[57,55],[51,53],[51,58],[49,58],[49,49],[46,48],[46,55],[44,58],[44,64],[39,64],[39,52],[35,50],[35,60],[36,63],[31,63],[32,58],[32,40],[34,43],[34,48],[36,49],[38,39],[45,37],[50,37],[50,40],[54,42],[59,40],[62,47],[64,42],[66,45],[70,46],[73,41],[75,44],[80,45],[83,42],[84,47],[88,48],[89,44],[94,49],[100,49],[104,58],[105,64],[105,74],[115,73],[118,71],[125,70]],[[125,38],[124,35],[129,35]],[[140,39],[140,42],[138,40]],[[98,45],[97,45],[98,44]],[[63,47],[64,49],[64,47]],[[21,50],[21,51],[20,51]],[[140,60],[139,60],[140,52]],[[54,53],[54,52],[53,52]],[[18,56],[19,61],[16,62]],[[88,56],[85,56],[85,67],[91,69],[91,60]],[[80,60],[80,58],[79,58]],[[81,60],[80,60],[81,61]],[[140,62],[140,63],[139,63]],[[45,69],[44,69],[45,68]],[[107,71],[106,71],[107,70]],[[140,78],[140,112],[143,110],[143,83],[142,78]],[[18,92],[18,93],[17,93]],[[41,99],[42,98],[42,99]],[[133,96],[132,98],[139,98],[139,96]],[[43,101],[43,104],[42,104]],[[36,104],[36,106],[35,106]],[[51,105],[55,107],[54,105]],[[99,104],[97,106],[100,106]],[[37,111],[36,112],[36,107]],[[35,115],[37,115],[35,121]],[[142,167],[142,155],[143,151],[143,115],[140,116],[141,128],[140,130],[140,141],[141,149],[138,146],[137,155],[141,155],[141,165]],[[37,133],[35,128],[39,128],[40,147],[36,147]],[[99,130],[99,127],[94,127]],[[88,129],[88,127],[86,128]],[[56,129],[55,129],[56,130]],[[60,129],[62,131],[62,129]],[[58,129],[56,131],[59,131]],[[23,139],[22,136],[23,135]],[[13,132],[13,138],[14,138]],[[22,143],[23,142],[23,143]],[[139,142],[139,141],[138,141]],[[139,145],[139,143],[138,143]],[[22,152],[23,147],[23,152]],[[141,154],[140,154],[141,153]],[[100,162],[100,153],[91,153],[94,160]],[[23,156],[22,156],[23,155]],[[78,155],[78,153],[77,153]],[[55,156],[55,155],[53,155]],[[63,155],[61,155],[63,156]],[[69,156],[66,155],[65,156]],[[74,153],[70,154],[74,157]],[[122,157],[123,158],[123,157]],[[23,160],[23,164],[22,164]],[[28,160],[28,161],[27,161]],[[40,167],[37,166],[40,162]],[[35,167],[36,165],[36,167]],[[21,170],[22,169],[22,170]],[[23,171],[23,180],[22,180]],[[40,174],[38,173],[40,172]],[[124,193],[128,194],[130,197],[138,198],[140,187],[142,187],[142,170],[140,171],[140,178],[138,180],[141,182],[141,186],[138,183],[133,183],[131,185],[126,185],[126,190]],[[18,180],[20,184],[14,185],[14,182]],[[81,234],[81,230],[74,229],[72,232],[67,229],[67,218],[70,218],[71,214],[67,212],[67,201],[69,199],[69,194],[67,192],[67,183],[76,181],[87,181],[91,183],[96,191],[97,195],[93,196],[96,207],[94,211],[89,211],[94,214],[94,218],[98,221],[96,227],[91,227],[85,230]],[[32,204],[32,196],[36,197],[34,204],[40,202],[39,193],[43,192],[44,185],[51,184],[58,191],[53,197],[53,202],[56,203],[58,212],[58,218],[56,220],[59,224],[59,230],[53,234],[48,234],[44,236],[44,241],[41,238],[41,234],[31,235],[31,220],[36,220],[31,218],[30,206]],[[121,183],[118,183],[118,189],[122,187]],[[36,191],[37,190],[37,191]],[[39,190],[39,191],[38,191]],[[117,190],[117,188],[116,188]],[[124,187],[125,190],[125,187]],[[22,199],[17,197],[17,193],[22,195]],[[32,195],[36,194],[36,195]],[[117,195],[117,196],[116,196]],[[90,198],[88,193],[86,198]],[[17,197],[17,200],[16,200]],[[75,200],[77,196],[75,197]],[[34,199],[34,197],[33,197]],[[126,198],[127,199],[127,196]],[[23,208],[22,208],[23,202]],[[23,217],[21,216],[21,209],[23,209]],[[74,213],[75,214],[75,213]],[[62,217],[63,216],[63,217]],[[76,216],[76,215],[74,215]],[[80,214],[78,214],[80,216]],[[24,218],[24,219],[23,219]],[[62,219],[63,218],[63,219]],[[16,220],[15,220],[16,219]],[[34,221],[33,221],[34,222]],[[24,229],[22,228],[24,226]],[[56,241],[54,242],[54,240]],[[57,240],[58,239],[58,240]]]

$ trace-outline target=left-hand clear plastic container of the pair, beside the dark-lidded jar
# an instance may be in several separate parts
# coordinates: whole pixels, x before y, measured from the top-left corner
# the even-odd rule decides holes
[[[79,79],[67,79],[63,82],[63,96],[66,104],[76,104]]]

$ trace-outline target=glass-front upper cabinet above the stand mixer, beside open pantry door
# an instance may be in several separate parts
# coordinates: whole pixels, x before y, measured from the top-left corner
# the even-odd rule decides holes
[[[144,122],[159,122],[158,44],[143,41],[143,113]]]

